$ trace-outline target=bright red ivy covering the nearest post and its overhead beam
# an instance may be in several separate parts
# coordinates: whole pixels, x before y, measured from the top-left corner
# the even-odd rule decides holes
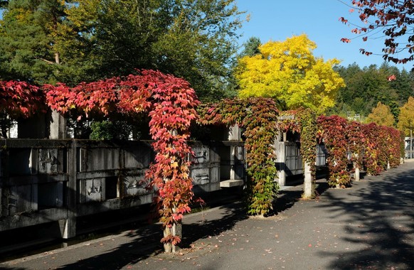
[[[43,89],[48,105],[62,113],[75,109],[88,117],[91,113],[149,112],[156,156],[145,176],[158,194],[154,200],[164,225],[161,242],[178,244],[181,239],[171,228],[181,221],[184,213],[190,212],[193,197],[189,176],[189,157],[193,152],[187,141],[199,102],[189,82],[158,71],[142,70],[139,75],[84,82],[75,87],[45,85]]]

